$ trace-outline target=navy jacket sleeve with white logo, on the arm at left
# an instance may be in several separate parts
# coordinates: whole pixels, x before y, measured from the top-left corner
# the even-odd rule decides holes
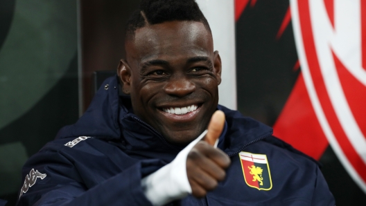
[[[24,166],[26,187],[21,188],[17,205],[151,205],[141,177],[155,171],[154,164],[136,162],[92,186],[85,183],[78,167],[58,151],[40,151]],[[46,176],[37,177],[35,171]],[[101,176],[98,172],[94,171],[95,178]]]

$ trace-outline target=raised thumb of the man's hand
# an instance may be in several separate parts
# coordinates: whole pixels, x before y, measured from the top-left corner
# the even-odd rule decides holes
[[[225,124],[225,113],[223,111],[215,111],[209,122],[209,127],[207,127],[207,134],[204,137],[204,141],[214,146],[216,140],[220,137],[223,132]]]

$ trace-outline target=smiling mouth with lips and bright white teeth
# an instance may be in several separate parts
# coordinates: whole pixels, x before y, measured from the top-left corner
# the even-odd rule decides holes
[[[159,109],[166,118],[175,122],[186,122],[196,118],[202,104],[191,104],[189,106],[166,106]]]

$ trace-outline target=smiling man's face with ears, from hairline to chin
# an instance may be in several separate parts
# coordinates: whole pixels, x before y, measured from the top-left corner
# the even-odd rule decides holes
[[[134,113],[173,144],[197,138],[218,104],[211,33],[200,22],[168,21],[137,29],[125,48],[119,76]]]

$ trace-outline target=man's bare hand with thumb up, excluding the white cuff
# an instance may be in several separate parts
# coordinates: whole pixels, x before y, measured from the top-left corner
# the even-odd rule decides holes
[[[225,169],[230,158],[220,149],[214,148],[225,124],[225,114],[216,111],[209,122],[208,132],[203,141],[195,144],[186,159],[186,171],[192,195],[197,198],[206,196],[207,191],[215,189],[218,181],[225,179]]]

